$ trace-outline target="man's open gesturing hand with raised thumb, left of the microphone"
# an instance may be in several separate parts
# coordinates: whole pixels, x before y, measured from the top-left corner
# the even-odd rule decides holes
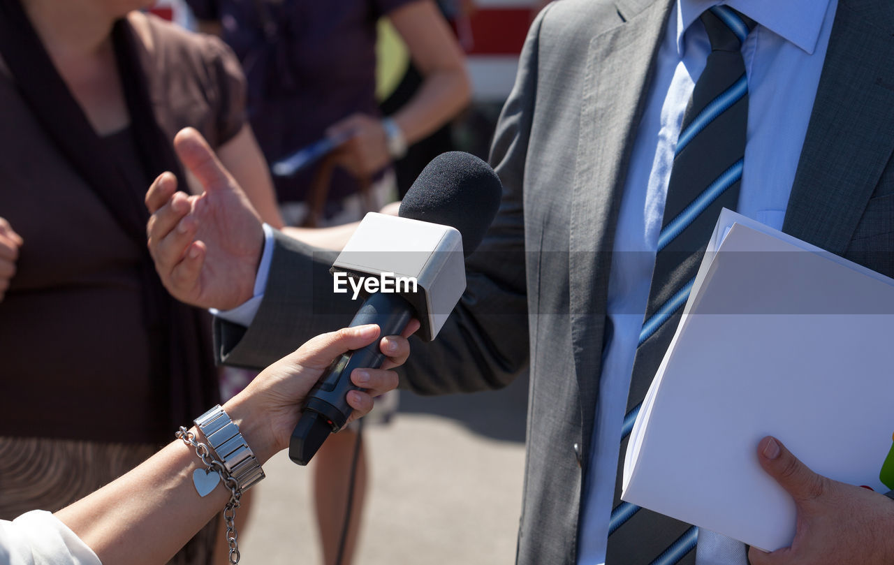
[[[173,140],[186,170],[204,192],[177,191],[162,173],[146,194],[148,247],[171,295],[201,308],[235,308],[250,299],[264,246],[261,219],[198,131]]]

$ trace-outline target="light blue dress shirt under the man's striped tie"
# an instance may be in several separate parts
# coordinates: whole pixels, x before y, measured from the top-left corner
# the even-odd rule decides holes
[[[605,561],[621,422],[652,279],[664,198],[680,123],[711,45],[699,16],[727,4],[757,22],[742,46],[748,79],[745,168],[738,212],[780,229],[804,144],[837,0],[678,0],[659,47],[615,234],[603,351],[578,564]],[[569,502],[570,503],[570,502]],[[745,564],[742,544],[699,533],[698,565]]]

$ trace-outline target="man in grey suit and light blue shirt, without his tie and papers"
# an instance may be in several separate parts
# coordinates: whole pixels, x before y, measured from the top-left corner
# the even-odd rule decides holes
[[[500,212],[468,258],[460,305],[435,342],[414,343],[402,372],[404,386],[444,393],[530,371],[519,563],[746,562],[744,546],[709,532],[696,548],[686,530],[662,552],[647,530],[634,545],[658,552],[615,557],[608,534],[636,337],[687,97],[713,49],[700,20],[712,4],[561,0],[539,14],[493,141]],[[750,109],[738,211],[894,275],[894,10],[887,0],[729,4],[754,21],[740,38]],[[213,276],[234,237],[215,239],[223,218],[250,226],[246,272],[261,249],[269,256],[251,314],[217,321],[219,356],[262,366],[342,320],[350,305],[324,275],[333,257],[279,233],[265,243],[257,220],[228,206],[239,191],[198,141],[184,135],[178,147],[207,206],[172,197],[170,177],[150,189],[150,248],[168,288],[215,308],[252,298],[250,284],[233,291]],[[790,548],[751,550],[754,565],[891,561],[894,502],[815,475],[773,438],[756,449],[799,522]]]

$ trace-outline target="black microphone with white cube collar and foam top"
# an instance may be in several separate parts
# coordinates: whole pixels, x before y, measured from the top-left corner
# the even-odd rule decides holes
[[[330,270],[334,291],[350,286],[355,297],[368,295],[350,326],[375,324],[380,336],[396,335],[416,317],[417,334],[433,340],[466,290],[464,257],[484,239],[501,195],[488,164],[451,151],[426,165],[397,217],[367,214]],[[305,400],[291,434],[291,460],[307,465],[329,434],[342,429],[353,410],[346,395],[359,389],[351,371],[381,367],[384,359],[376,341],[333,361]]]

